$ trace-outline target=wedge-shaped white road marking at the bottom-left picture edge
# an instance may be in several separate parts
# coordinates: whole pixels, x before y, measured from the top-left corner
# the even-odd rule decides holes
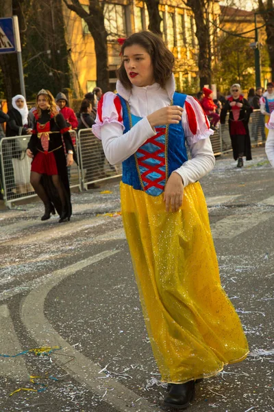
[[[17,339],[8,306],[1,305],[0,354],[12,356],[20,352],[23,352],[23,350]],[[29,380],[29,374],[24,356],[16,356],[16,358],[4,358],[0,356],[0,375],[5,376],[5,378],[20,379],[21,381],[27,382]]]

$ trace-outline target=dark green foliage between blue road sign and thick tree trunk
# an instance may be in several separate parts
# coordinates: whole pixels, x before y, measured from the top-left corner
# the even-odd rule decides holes
[[[55,95],[71,84],[61,1],[51,9],[33,3],[28,17],[22,49],[27,98],[33,100],[42,88]]]

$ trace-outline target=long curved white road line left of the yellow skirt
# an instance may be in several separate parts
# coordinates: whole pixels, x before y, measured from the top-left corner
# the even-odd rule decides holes
[[[138,393],[134,393],[121,385],[121,383],[114,380],[114,378],[98,379],[99,371],[101,367],[90,361],[83,354],[77,352],[74,347],[69,345],[62,337],[56,332],[47,318],[44,315],[44,303],[50,290],[62,282],[67,276],[72,275],[76,271],[89,266],[94,262],[99,262],[108,256],[114,255],[118,251],[105,251],[98,255],[92,256],[88,260],[82,260],[71,266],[60,269],[53,273],[53,276],[49,277],[42,286],[38,286],[29,293],[29,295],[23,301],[21,307],[21,319],[27,328],[29,334],[38,343],[38,345],[49,345],[66,348],[66,354],[69,354],[75,359],[66,365],[62,366],[64,359],[62,356],[53,354],[55,363],[58,363],[61,367],[66,369],[73,378],[79,382],[84,383],[89,387],[93,393],[97,393],[98,396],[103,398],[109,404],[112,404],[118,411],[132,412],[132,403],[135,404],[134,411],[149,412],[155,411],[153,405],[149,404],[147,400],[140,398]],[[108,389],[114,390],[108,391]]]

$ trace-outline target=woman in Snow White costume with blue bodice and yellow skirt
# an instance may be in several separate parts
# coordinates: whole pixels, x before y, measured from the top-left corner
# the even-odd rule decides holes
[[[153,354],[171,384],[164,404],[186,409],[195,380],[248,353],[198,182],[214,166],[213,131],[199,102],[175,92],[174,57],[161,38],[132,34],[121,55],[118,95],[103,95],[92,130],[108,161],[123,161],[123,224]]]

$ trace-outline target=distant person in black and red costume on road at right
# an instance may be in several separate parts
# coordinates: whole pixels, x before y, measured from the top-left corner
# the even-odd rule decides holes
[[[229,111],[229,135],[232,141],[233,157],[235,160],[238,159],[237,168],[242,168],[243,156],[247,160],[252,159],[248,122],[253,108],[241,94],[240,84],[233,84],[230,91],[232,95],[227,98],[221,111],[221,124],[225,124],[225,117]]]

